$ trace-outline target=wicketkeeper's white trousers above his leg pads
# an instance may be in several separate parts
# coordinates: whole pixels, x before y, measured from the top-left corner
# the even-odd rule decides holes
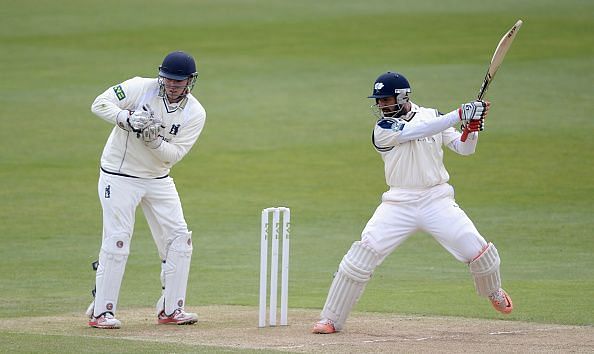
[[[179,194],[169,176],[131,178],[100,171],[98,192],[103,208],[104,240],[113,235],[132,237],[139,204],[162,260],[173,239],[188,233]]]

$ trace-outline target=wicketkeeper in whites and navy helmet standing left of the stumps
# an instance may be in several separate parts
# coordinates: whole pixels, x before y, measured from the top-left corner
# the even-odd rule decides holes
[[[87,310],[89,326],[119,328],[115,318],[120,285],[130,253],[140,205],[161,258],[162,294],[157,322],[192,324],[184,310],[192,256],[192,232],[169,171],[192,148],[206,112],[191,94],[198,78],[194,59],[168,54],[157,78],[134,77],[99,95],[91,110],[115,124],[99,172],[103,238],[96,266],[95,299]]]

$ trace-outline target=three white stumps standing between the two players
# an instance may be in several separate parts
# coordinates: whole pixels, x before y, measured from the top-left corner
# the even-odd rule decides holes
[[[270,214],[272,214],[272,227],[270,227]],[[278,294],[278,251],[279,251],[279,225],[282,214],[282,260],[281,260],[281,314],[280,325],[287,325],[288,300],[289,300],[289,233],[291,229],[291,210],[285,207],[266,208],[262,210],[262,225],[260,239],[260,313],[258,327],[266,326],[266,283],[268,272],[268,230],[272,231],[271,260],[270,260],[270,326],[276,326],[276,308]]]

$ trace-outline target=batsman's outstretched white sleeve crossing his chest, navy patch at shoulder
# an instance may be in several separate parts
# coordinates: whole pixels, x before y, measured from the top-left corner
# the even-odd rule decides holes
[[[459,122],[458,111],[434,119],[411,120],[400,118],[380,119],[375,125],[373,141],[378,150],[404,142],[438,134]]]

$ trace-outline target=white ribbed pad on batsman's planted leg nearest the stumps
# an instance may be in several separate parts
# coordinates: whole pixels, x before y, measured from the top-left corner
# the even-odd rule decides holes
[[[379,260],[379,254],[360,241],[354,242],[343,257],[321,314],[322,318],[332,320],[337,330],[343,328]]]

